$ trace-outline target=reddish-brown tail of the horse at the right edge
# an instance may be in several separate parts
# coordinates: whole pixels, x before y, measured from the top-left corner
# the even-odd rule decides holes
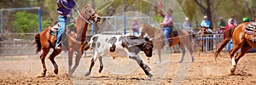
[[[221,52],[221,50],[226,46],[228,42],[230,42],[233,32],[235,31],[236,27],[230,27],[227,31],[224,31],[224,40],[219,44],[219,48],[214,54],[215,59],[217,59],[218,54]]]

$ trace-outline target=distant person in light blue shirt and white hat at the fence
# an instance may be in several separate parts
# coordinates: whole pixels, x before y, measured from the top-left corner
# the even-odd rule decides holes
[[[211,24],[210,21],[207,20],[207,16],[204,16],[204,20],[201,21],[200,26],[201,26],[202,28],[206,28],[206,30],[209,31],[210,34],[212,34],[213,32],[212,32],[212,30],[210,29],[210,24]],[[200,33],[201,33],[201,30],[198,31],[198,34],[200,34]]]

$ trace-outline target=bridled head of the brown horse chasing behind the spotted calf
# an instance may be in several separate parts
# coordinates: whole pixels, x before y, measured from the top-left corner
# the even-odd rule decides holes
[[[82,12],[84,12],[84,17],[87,20],[92,20],[94,22],[99,22],[101,20],[100,16],[96,13],[93,8],[90,8],[89,5],[85,5]]]

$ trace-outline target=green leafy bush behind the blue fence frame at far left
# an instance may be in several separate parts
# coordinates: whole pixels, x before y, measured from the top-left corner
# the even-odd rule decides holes
[[[38,14],[29,14],[25,11],[17,12],[15,15],[15,21],[12,21],[12,26],[15,32],[37,32],[38,31]],[[49,21],[42,22],[42,28],[49,26]]]

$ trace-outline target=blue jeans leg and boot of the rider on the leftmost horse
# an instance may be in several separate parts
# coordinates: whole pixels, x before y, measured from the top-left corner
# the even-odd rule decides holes
[[[60,27],[58,29],[58,35],[57,35],[57,40],[55,42],[55,46],[59,46],[61,43],[61,36],[63,31],[65,30],[67,16],[59,15],[58,20],[59,20]]]

